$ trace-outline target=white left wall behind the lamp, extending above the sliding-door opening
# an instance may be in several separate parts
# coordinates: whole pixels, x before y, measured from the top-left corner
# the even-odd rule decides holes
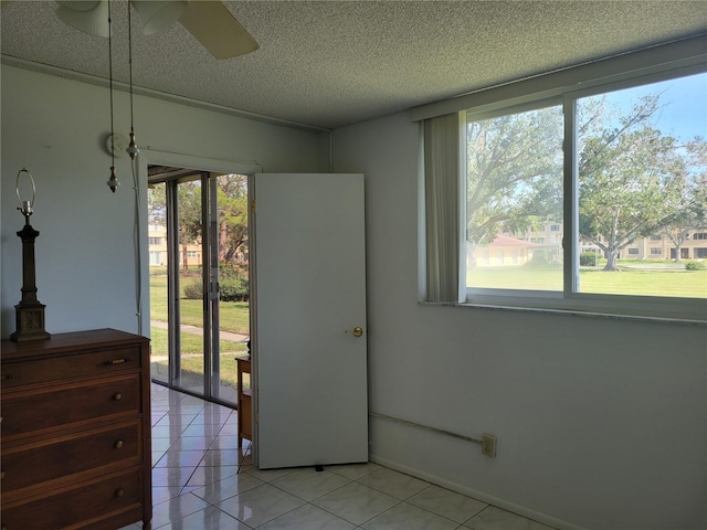
[[[40,232],[36,286],[38,298],[46,305],[46,330],[137,331],[133,179],[128,158],[120,158],[116,159],[120,188],[113,194],[106,186],[108,105],[108,92],[99,86],[2,66],[3,338],[15,329],[14,305],[21,298],[21,242],[15,232],[23,218],[17,211],[14,183],[23,167],[36,182],[31,223]],[[127,94],[116,93],[115,130],[126,136],[128,108]],[[154,152],[158,150],[180,153],[184,160],[233,161],[234,170],[328,169],[323,140],[327,135],[315,131],[139,96],[135,124],[141,156],[152,160],[165,158]],[[145,176],[140,186],[145,189]],[[146,227],[144,232],[145,237]]]

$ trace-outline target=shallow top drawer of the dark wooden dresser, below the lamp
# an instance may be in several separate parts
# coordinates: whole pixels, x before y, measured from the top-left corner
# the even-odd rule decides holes
[[[3,389],[13,389],[28,384],[108,375],[125,370],[140,369],[140,364],[141,348],[139,344],[135,344],[62,357],[38,357],[17,362],[7,361],[2,363],[0,380]]]

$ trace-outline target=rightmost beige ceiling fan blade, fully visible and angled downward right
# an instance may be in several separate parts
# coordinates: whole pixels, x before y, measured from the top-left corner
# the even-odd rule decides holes
[[[236,57],[260,47],[221,2],[192,0],[179,22],[215,59]]]

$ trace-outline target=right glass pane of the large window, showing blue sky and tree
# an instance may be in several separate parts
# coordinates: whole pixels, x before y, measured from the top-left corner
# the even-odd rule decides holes
[[[707,297],[706,95],[698,74],[578,99],[580,293]]]

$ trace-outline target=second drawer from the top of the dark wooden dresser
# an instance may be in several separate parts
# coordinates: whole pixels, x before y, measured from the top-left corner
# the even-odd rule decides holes
[[[2,392],[2,439],[41,430],[105,420],[116,414],[143,411],[138,373],[73,383],[61,388],[43,386],[31,391]],[[149,406],[149,404],[145,404]]]

